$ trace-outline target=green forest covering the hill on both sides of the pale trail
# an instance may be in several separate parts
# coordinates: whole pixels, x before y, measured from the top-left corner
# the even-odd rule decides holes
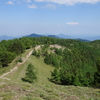
[[[54,44],[64,48],[52,47],[50,49],[49,46]],[[49,37],[3,40],[0,42],[0,65],[7,66],[16,56],[37,45],[43,45],[43,47],[41,50],[35,50],[33,54],[37,57],[44,57],[45,63],[55,67],[51,81],[63,85],[99,86],[99,40],[80,42],[73,39]],[[53,52],[50,52],[48,48]]]

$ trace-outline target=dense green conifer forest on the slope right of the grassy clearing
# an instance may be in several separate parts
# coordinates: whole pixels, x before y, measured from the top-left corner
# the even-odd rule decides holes
[[[33,53],[43,56],[44,62],[55,67],[50,81],[61,85],[100,87],[100,41],[80,42],[77,40],[58,40],[65,49],[51,48]],[[43,55],[45,54],[45,55]]]

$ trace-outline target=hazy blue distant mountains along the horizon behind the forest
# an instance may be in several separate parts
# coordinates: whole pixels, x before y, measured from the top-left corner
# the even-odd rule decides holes
[[[57,34],[57,35],[39,35],[39,34],[35,34],[32,33],[30,35],[26,35],[24,37],[52,37],[52,38],[59,38],[59,39],[76,39],[79,41],[83,41],[83,42],[89,42],[89,41],[94,41],[94,40],[100,40],[100,36],[95,36],[95,37],[74,37],[74,36],[69,36],[69,35],[65,35],[65,34]],[[18,37],[12,37],[12,36],[0,36],[0,41],[2,40],[10,40],[10,39],[14,39],[14,38],[18,38]]]

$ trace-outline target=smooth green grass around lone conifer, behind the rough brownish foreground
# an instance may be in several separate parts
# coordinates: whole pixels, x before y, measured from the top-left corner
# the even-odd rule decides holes
[[[21,82],[23,83],[23,81],[21,80],[21,78],[23,78],[25,76],[25,70],[27,68],[27,65],[29,63],[32,63],[36,69],[37,72],[37,82],[38,84],[53,84],[51,82],[48,81],[48,78],[51,75],[50,71],[53,71],[53,67],[46,65],[44,63],[43,58],[36,58],[35,56],[30,56],[30,58],[23,64],[21,65],[18,70],[16,70],[15,72],[13,72],[12,74],[8,75],[7,77],[10,78],[12,81],[15,82]]]

